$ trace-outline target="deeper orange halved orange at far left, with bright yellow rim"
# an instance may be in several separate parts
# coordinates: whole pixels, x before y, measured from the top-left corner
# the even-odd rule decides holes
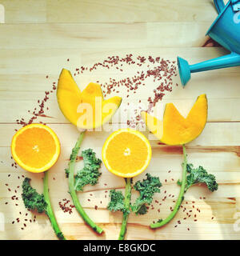
[[[14,134],[11,151],[14,160],[23,169],[41,173],[57,162],[60,142],[50,127],[30,124]]]

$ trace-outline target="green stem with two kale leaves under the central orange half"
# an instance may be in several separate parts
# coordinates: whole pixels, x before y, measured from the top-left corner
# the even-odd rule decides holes
[[[158,177],[146,174],[146,179],[134,184],[134,190],[139,192],[139,197],[134,204],[131,204],[132,179],[126,178],[125,196],[121,191],[110,190],[110,202],[107,209],[110,211],[122,211],[122,226],[118,240],[124,240],[126,234],[127,220],[130,212],[134,214],[146,214],[147,206],[151,204],[155,193],[160,193],[159,187],[162,186]]]

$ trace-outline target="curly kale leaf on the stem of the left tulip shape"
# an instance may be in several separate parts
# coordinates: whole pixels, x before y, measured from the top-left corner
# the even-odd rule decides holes
[[[101,175],[99,168],[101,166],[102,160],[96,158],[96,153],[93,150],[82,151],[82,158],[84,167],[82,170],[78,170],[75,176],[74,189],[77,191],[82,191],[83,187],[90,184],[92,186],[98,183],[98,178]],[[68,172],[66,171],[66,174]]]

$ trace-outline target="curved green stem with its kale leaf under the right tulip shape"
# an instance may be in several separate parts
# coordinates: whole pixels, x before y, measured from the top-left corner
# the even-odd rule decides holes
[[[214,190],[218,190],[218,183],[216,182],[216,178],[214,177],[214,175],[208,174],[206,170],[202,168],[202,166],[199,166],[197,169],[194,169],[192,164],[187,163],[186,147],[184,145],[182,145],[182,150],[184,160],[182,164],[182,182],[178,181],[178,185],[181,186],[178,195],[178,200],[174,206],[174,210],[167,218],[165,218],[164,220],[159,219],[158,222],[150,224],[150,228],[152,229],[165,226],[174,218],[182,204],[184,194],[190,188],[190,186],[193,186],[194,184],[198,183],[205,183],[210,191],[214,192]]]

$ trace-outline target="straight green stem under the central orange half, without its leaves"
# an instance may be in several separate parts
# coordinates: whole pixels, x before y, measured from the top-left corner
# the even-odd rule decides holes
[[[118,240],[124,240],[125,234],[126,234],[126,225],[127,225],[127,219],[130,214],[130,200],[131,200],[131,178],[126,178],[126,188],[125,188],[125,200],[124,200],[124,206],[125,206],[125,212],[122,216],[122,226],[119,234]]]

